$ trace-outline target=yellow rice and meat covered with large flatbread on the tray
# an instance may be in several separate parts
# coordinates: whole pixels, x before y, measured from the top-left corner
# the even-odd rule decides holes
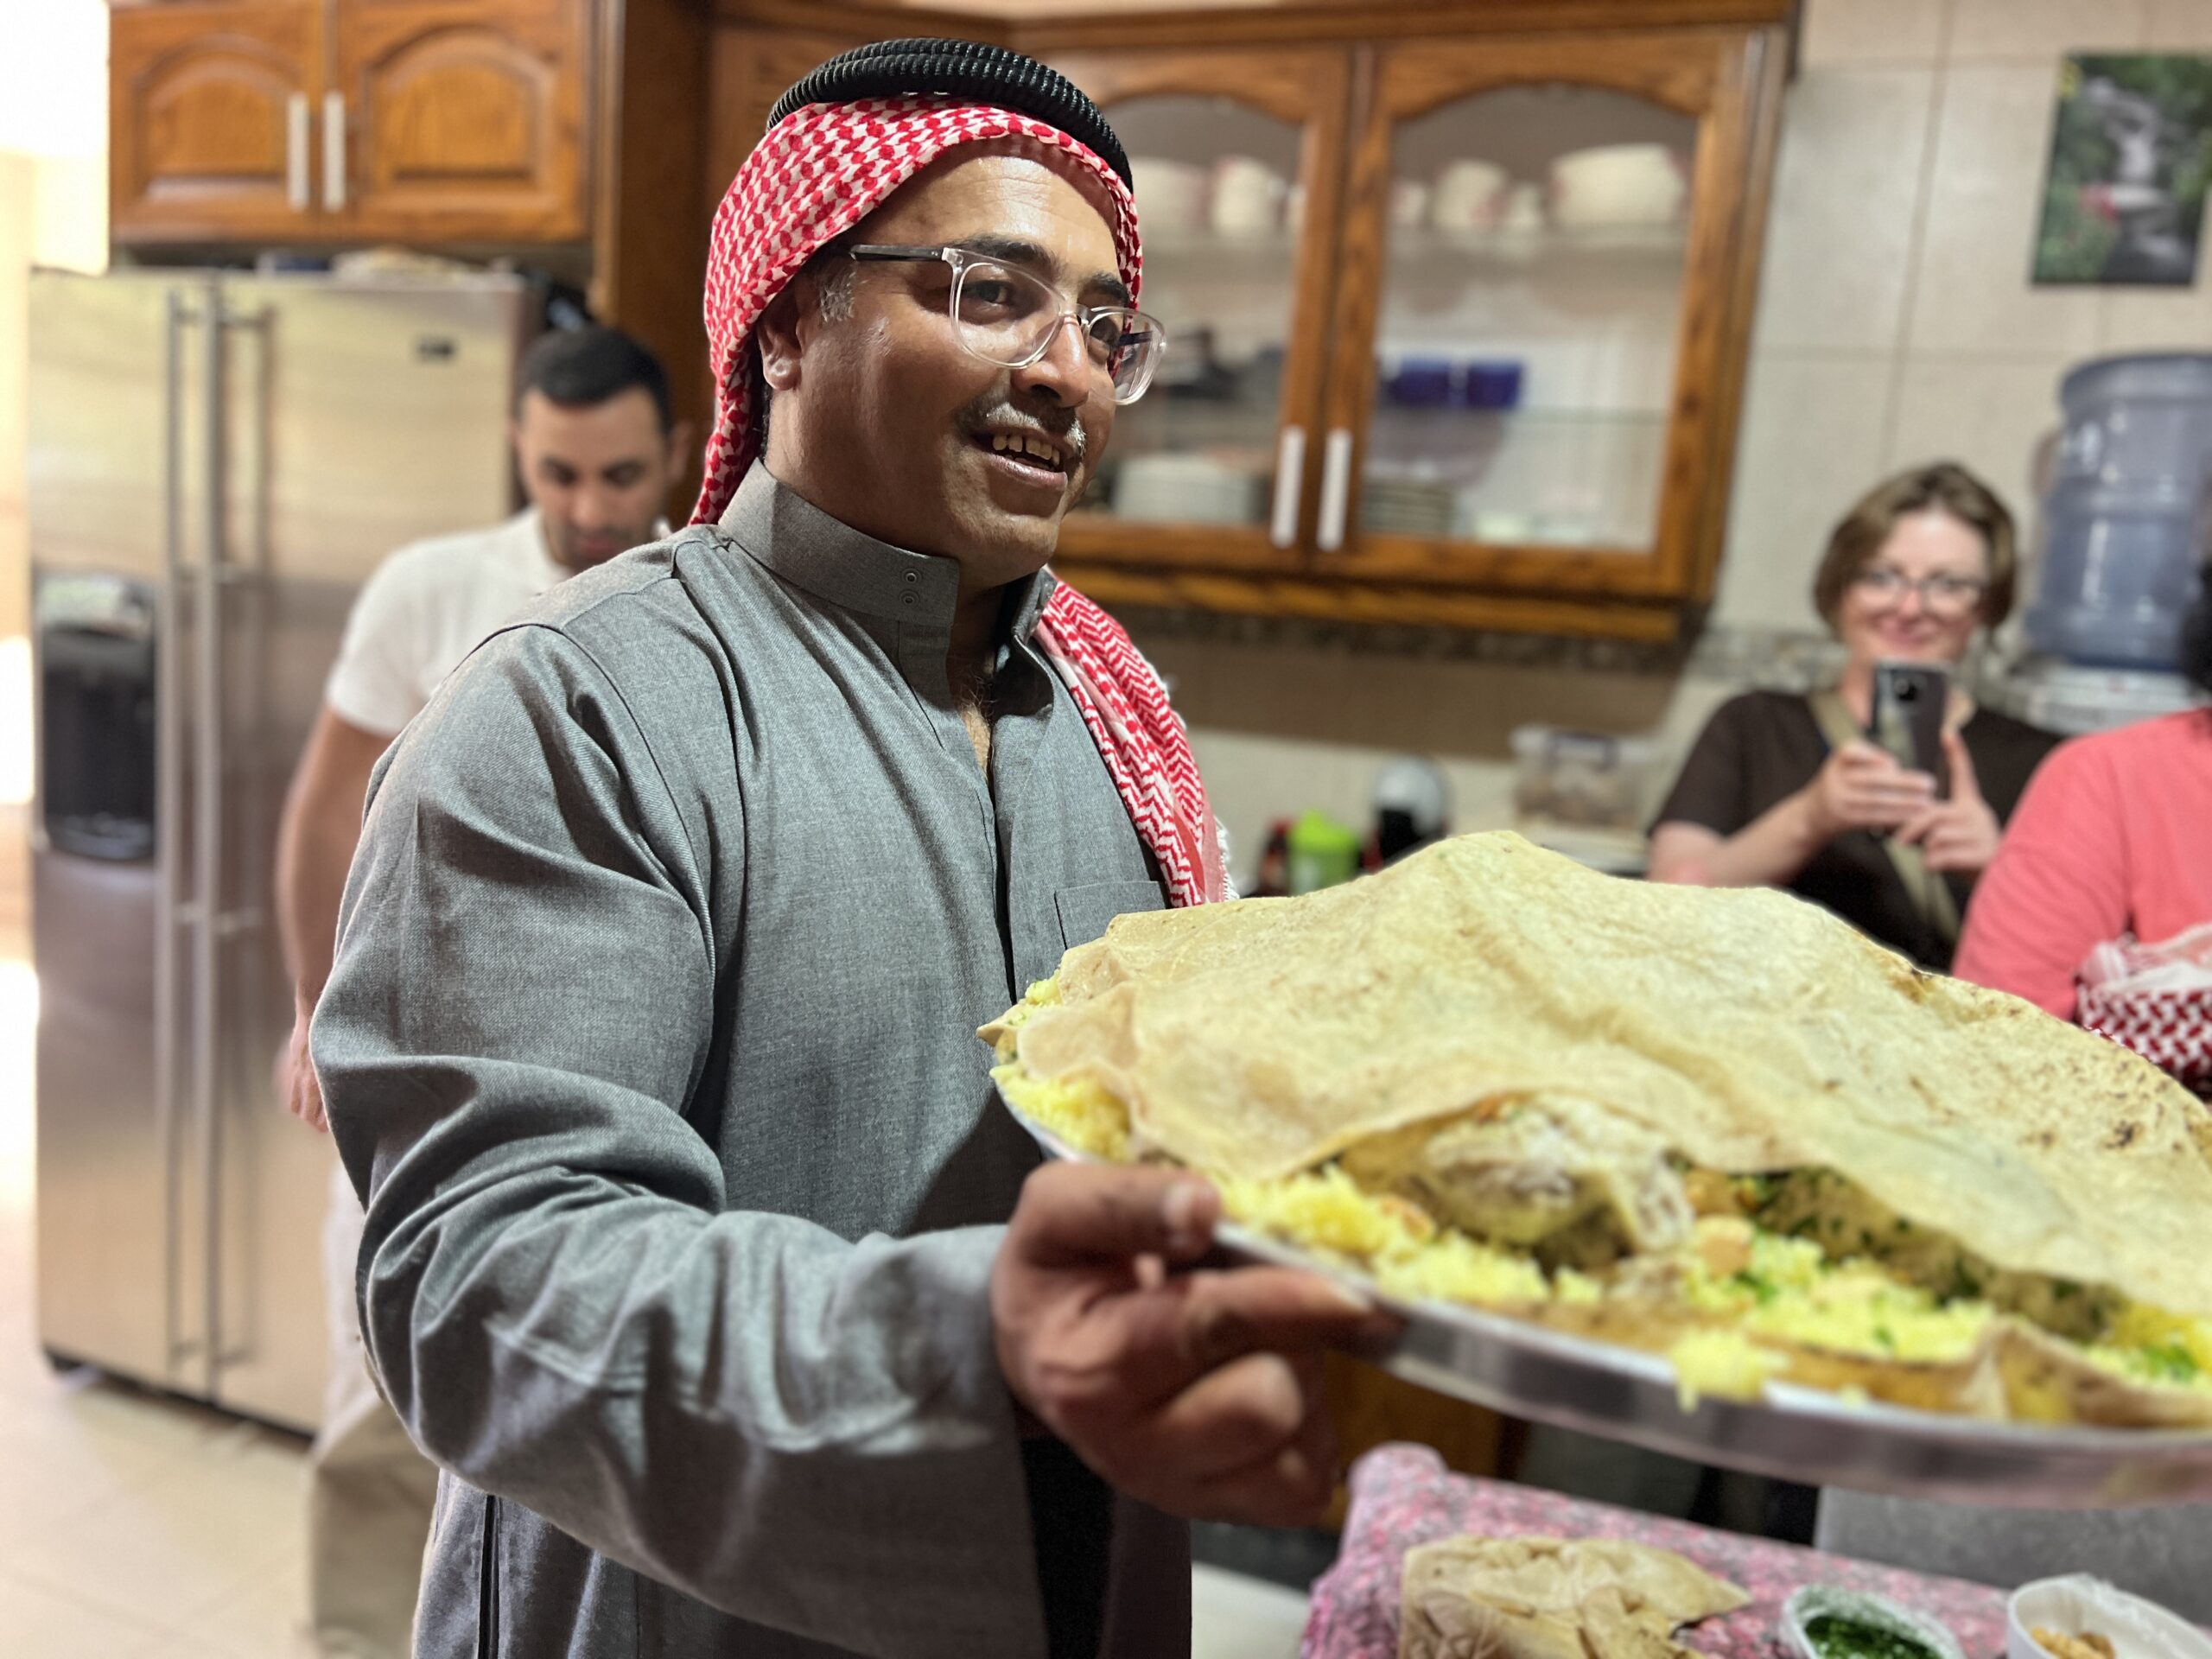
[[[980,1033],[1006,1102],[1367,1274],[2000,1420],[2212,1427],[2212,1115],[1778,891],[1440,843],[1124,916]]]

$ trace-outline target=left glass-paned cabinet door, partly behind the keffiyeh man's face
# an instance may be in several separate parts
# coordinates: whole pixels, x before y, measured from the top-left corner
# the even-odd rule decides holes
[[[1086,504],[1062,529],[1062,564],[1294,568],[1312,515],[1352,60],[1194,49],[1055,66],[1106,108],[1130,155],[1139,305],[1168,334],[1159,376],[1117,414]]]

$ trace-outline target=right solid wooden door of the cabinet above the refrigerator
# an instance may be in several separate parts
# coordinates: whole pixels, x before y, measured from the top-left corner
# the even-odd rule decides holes
[[[586,0],[338,0],[323,208],[354,237],[586,234]]]

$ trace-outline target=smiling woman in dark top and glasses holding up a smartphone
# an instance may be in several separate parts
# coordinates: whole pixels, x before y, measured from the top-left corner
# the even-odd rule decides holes
[[[1814,606],[1847,653],[1838,684],[1747,692],[1714,712],[1652,825],[1652,878],[1787,887],[1949,969],[1973,878],[2057,743],[1975,708],[1953,677],[2013,608],[2015,571],[2013,515],[1964,467],[1876,484],[1814,575]],[[1900,701],[1916,697],[1944,703],[1942,719],[1916,723]],[[1891,737],[1916,726],[1933,754]]]

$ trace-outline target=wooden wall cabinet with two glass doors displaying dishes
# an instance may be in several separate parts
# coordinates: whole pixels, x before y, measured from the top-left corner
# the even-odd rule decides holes
[[[1137,164],[1170,336],[1057,571],[1106,604],[1661,641],[1714,586],[1792,13],[717,0],[708,201],[810,51],[1044,58]],[[1575,157],[1615,146],[1677,206],[1608,201]],[[1270,177],[1274,219],[1219,210]],[[1486,215],[1447,210],[1484,179]]]

